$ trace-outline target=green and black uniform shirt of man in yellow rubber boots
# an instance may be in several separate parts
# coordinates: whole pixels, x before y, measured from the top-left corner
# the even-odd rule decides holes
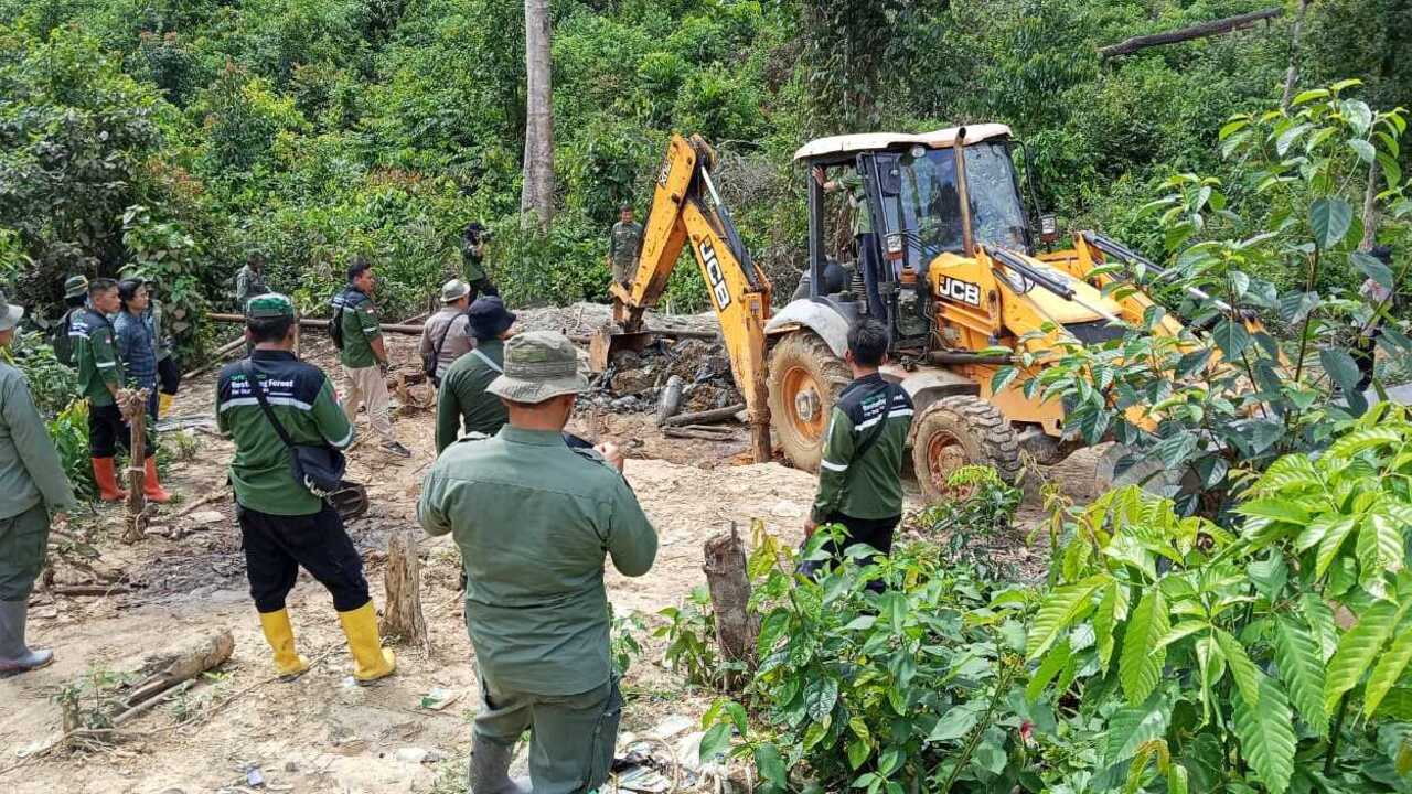
[[[337,449],[353,444],[353,425],[323,370],[285,350],[254,350],[250,362],[264,386],[270,411],[294,444],[328,444]],[[241,362],[220,370],[216,424],[236,442],[230,485],[240,506],[271,516],[309,516],[323,509],[323,500],[295,482],[292,452],[260,410]]]

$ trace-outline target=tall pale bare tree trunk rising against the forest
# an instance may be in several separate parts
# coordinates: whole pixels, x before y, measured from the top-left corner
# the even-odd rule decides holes
[[[554,220],[554,92],[549,61],[549,0],[525,0],[525,164],[520,212],[541,227]]]

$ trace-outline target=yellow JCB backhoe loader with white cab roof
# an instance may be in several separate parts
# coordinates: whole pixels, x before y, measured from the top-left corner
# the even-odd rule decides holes
[[[712,181],[714,153],[700,138],[674,136],[658,172],[642,253],[627,287],[614,284],[613,319],[594,338],[590,360],[603,369],[620,348],[641,348],[642,311],[657,305],[682,247],[706,280],[720,318],[736,383],[746,397],[757,461],[772,456],[771,429],[785,458],[816,469],[826,424],[850,380],[843,362],[850,324],[873,315],[892,329],[884,376],[912,397],[912,463],[928,497],[964,463],[987,463],[1014,479],[1021,449],[1042,462],[1069,452],[1060,442],[1063,407],[1021,390],[1032,367],[1000,391],[991,376],[1012,353],[1048,349],[1045,324],[1083,342],[1121,336],[1114,321],[1138,324],[1152,301],[1121,300],[1103,287],[1123,274],[1093,275],[1103,261],[1161,273],[1124,246],[1084,232],[1066,250],[1042,253],[1052,219],[1027,212],[1010,127],[977,124],[925,134],[851,134],[810,141],[795,153],[809,185],[809,268],[794,298],[771,307],[771,284],[746,250]],[[830,251],[826,188],[849,179],[854,212],[871,233]],[[1031,218],[1042,218],[1042,230]],[[851,261],[850,261],[851,260]],[[871,271],[871,273],[870,273]],[[1156,332],[1176,335],[1165,316]],[[1027,336],[1029,335],[1029,336]]]

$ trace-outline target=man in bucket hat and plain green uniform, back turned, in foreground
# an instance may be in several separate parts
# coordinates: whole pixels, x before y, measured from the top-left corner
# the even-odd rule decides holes
[[[480,672],[470,790],[524,791],[508,778],[528,729],[534,794],[583,793],[609,776],[623,698],[609,661],[604,555],[627,576],[657,557],[657,533],[604,445],[570,449],[561,435],[587,389],[559,333],[505,343],[490,391],[510,424],[466,438],[432,465],[417,516],[450,533],[467,574],[466,626]]]

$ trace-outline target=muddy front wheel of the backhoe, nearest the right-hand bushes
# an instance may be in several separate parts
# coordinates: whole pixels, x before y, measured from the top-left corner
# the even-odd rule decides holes
[[[912,421],[912,470],[929,503],[946,496],[947,478],[966,465],[990,466],[1011,485],[1019,479],[1015,428],[980,397],[942,397]]]

